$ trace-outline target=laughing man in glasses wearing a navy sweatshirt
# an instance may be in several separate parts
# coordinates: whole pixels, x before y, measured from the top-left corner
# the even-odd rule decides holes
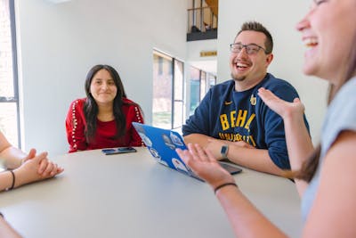
[[[206,147],[217,160],[266,173],[282,175],[290,168],[283,120],[257,95],[264,87],[288,102],[299,97],[287,81],[267,72],[272,49],[271,34],[261,23],[242,25],[231,44],[232,79],[211,88],[187,119],[186,143]]]

